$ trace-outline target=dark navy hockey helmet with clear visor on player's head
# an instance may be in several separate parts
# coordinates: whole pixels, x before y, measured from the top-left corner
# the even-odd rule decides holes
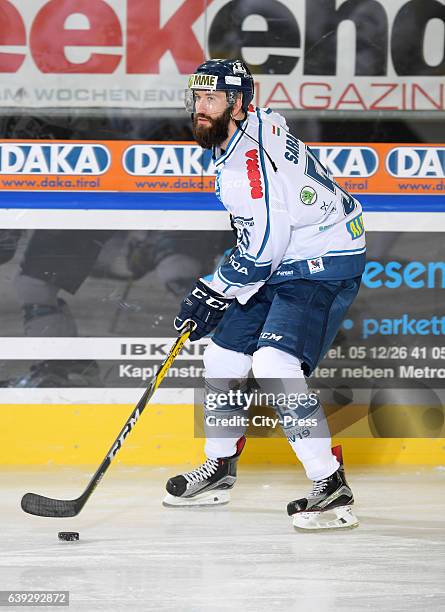
[[[247,64],[239,59],[207,60],[189,77],[185,90],[185,108],[189,113],[195,112],[194,90],[227,92],[227,102],[233,106],[239,93],[243,94],[242,109],[247,113],[254,96],[254,82]]]

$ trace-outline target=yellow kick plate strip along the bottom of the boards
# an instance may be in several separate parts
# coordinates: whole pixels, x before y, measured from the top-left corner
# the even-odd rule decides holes
[[[130,404],[0,406],[0,464],[98,464],[131,413]],[[368,407],[355,406],[361,418],[334,436],[343,445],[348,464],[445,465],[445,432],[436,438],[373,438]],[[193,405],[150,405],[127,437],[116,463],[174,465],[203,458]],[[330,419],[331,430],[338,429]],[[198,432],[198,435],[202,435]],[[278,433],[277,433],[278,435]],[[283,465],[295,462],[283,437],[249,438],[246,464]]]

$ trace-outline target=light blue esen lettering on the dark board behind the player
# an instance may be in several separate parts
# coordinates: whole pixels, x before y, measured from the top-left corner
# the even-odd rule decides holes
[[[445,262],[389,261],[381,264],[378,261],[368,261],[362,279],[369,289],[397,289],[406,286],[410,289],[445,288]]]

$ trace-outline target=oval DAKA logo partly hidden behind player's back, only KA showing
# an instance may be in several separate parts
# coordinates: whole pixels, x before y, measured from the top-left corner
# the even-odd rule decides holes
[[[370,147],[311,147],[332,176],[367,178],[377,172],[379,157]]]

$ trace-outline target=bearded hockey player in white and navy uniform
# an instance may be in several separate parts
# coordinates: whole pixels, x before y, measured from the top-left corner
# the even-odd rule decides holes
[[[365,264],[361,206],[289,133],[281,115],[251,106],[253,95],[252,76],[240,60],[204,62],[186,90],[195,138],[213,148],[216,195],[232,216],[238,244],[211,280],[196,282],[174,322],[178,331],[193,322],[192,341],[215,333],[204,354],[207,460],[168,481],[164,504],[229,501],[244,430],[210,423],[246,414],[245,393],[236,401],[224,398],[246,389],[252,369],[263,388],[287,398],[297,393],[296,405],[276,406],[313,481],[307,497],[288,505],[293,524],[353,527],[358,521],[341,449],[331,449],[318,398],[308,400],[304,392],[305,377],[328,350],[359,289]],[[210,406],[210,393],[224,401]]]

